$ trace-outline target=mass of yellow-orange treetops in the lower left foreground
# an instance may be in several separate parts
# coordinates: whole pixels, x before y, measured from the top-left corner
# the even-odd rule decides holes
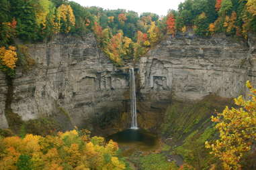
[[[0,139],[0,169],[16,170],[20,155],[30,156],[32,169],[39,170],[62,170],[66,165],[76,170],[125,169],[125,164],[116,157],[117,143],[105,143],[102,137],[85,136],[74,130],[58,133],[57,136],[30,134],[24,139]],[[109,161],[105,160],[105,155],[108,155]]]

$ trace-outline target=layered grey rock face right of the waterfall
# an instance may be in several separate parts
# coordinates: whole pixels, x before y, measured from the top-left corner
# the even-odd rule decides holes
[[[141,58],[140,92],[145,100],[198,100],[214,93],[226,98],[245,94],[245,82],[256,84],[256,43],[218,35],[187,33],[168,37]]]

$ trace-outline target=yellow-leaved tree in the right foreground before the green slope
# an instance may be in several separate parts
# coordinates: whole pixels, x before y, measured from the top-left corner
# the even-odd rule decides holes
[[[216,129],[220,139],[212,144],[206,142],[206,147],[212,149],[212,154],[223,161],[224,169],[241,169],[241,158],[251,150],[256,141],[256,89],[249,81],[246,83],[251,94],[250,99],[243,96],[234,99],[239,108],[226,108],[212,122],[216,122]]]

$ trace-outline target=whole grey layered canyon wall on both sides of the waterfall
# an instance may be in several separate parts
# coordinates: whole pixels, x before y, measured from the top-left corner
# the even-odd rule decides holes
[[[27,72],[17,67],[11,101],[13,112],[23,120],[62,112],[73,125],[92,129],[92,122],[102,114],[128,111],[128,72],[102,54],[93,35],[58,35],[48,43],[28,47],[36,65]],[[136,72],[138,119],[141,124],[150,122],[147,112],[153,112],[151,122],[157,122],[157,112],[171,98],[246,94],[246,80],[256,84],[255,35],[248,41],[224,35],[169,36],[140,58]],[[5,128],[7,82],[2,73],[0,89],[0,128]]]

